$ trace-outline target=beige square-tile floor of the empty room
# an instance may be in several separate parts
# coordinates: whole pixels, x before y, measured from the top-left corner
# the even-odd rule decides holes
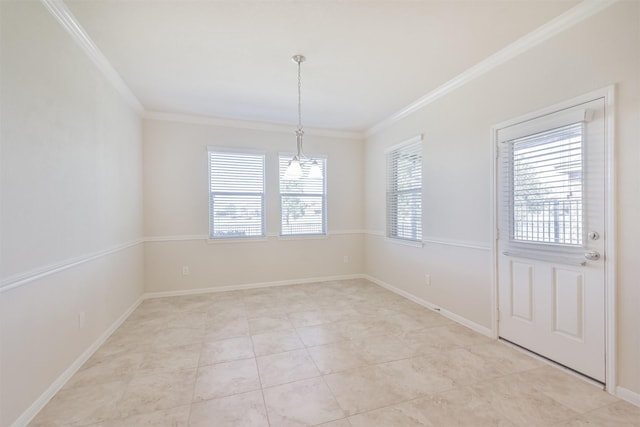
[[[640,408],[364,280],[144,301],[32,426],[640,426]]]

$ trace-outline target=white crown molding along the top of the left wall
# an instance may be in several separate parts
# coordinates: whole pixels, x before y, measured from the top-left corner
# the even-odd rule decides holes
[[[67,5],[62,0],[40,0],[49,12],[58,20],[60,25],[67,30],[71,38],[82,48],[87,56],[102,72],[104,77],[113,85],[116,91],[138,114],[144,111],[144,107],[138,98],[131,92],[131,89],[122,80],[120,74],[113,68],[109,60],[98,49],[89,34],[82,28],[78,20],[71,13]]]

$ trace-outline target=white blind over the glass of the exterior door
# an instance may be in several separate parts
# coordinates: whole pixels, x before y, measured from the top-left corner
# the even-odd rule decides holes
[[[582,245],[583,130],[574,123],[501,144],[512,242]]]

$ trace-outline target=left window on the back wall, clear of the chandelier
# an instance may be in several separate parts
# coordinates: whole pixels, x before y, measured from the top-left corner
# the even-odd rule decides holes
[[[264,154],[209,151],[209,238],[262,237]]]

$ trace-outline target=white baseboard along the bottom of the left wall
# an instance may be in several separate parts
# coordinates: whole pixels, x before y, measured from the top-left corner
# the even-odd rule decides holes
[[[50,386],[47,388],[44,393],[36,399],[35,402],[27,408],[26,411],[16,419],[11,427],[25,427],[36,415],[45,407],[47,403],[55,396],[55,394],[60,391],[62,387],[71,379],[71,377],[78,372],[78,370],[84,365],[84,363],[89,360],[89,358],[100,348],[102,344],[115,332],[120,325],[127,320],[127,317],[133,313],[133,311],[138,308],[140,303],[143,301],[143,297],[138,298],[136,302],[134,302],[115,322],[109,326],[109,328],[104,331],[97,340],[89,346],[78,358],[69,366]]]

